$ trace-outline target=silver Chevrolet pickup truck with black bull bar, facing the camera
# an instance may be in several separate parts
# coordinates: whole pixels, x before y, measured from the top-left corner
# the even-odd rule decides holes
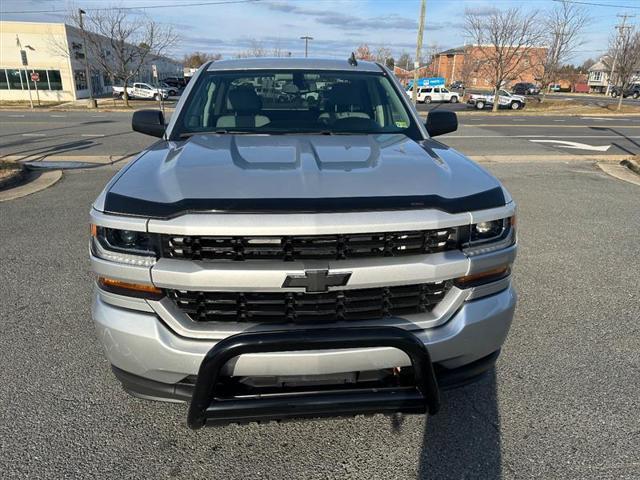
[[[353,57],[246,59],[132,123],[159,141],[91,209],[93,319],[128,392],[190,402],[191,428],[434,414],[493,367],[516,207],[432,139],[453,112],[424,122]]]

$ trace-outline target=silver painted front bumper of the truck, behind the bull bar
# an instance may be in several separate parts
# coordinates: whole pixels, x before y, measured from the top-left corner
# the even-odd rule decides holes
[[[446,323],[421,328],[402,318],[385,322],[411,331],[427,347],[434,364],[455,369],[487,357],[502,346],[513,318],[516,294],[510,280],[498,293],[467,300]],[[149,308],[126,308],[96,289],[93,318],[111,364],[129,374],[176,384],[195,376],[207,352],[219,341],[185,338]],[[376,325],[376,322],[370,322]],[[250,353],[230,360],[222,373],[234,376],[324,375],[411,365],[391,347]]]

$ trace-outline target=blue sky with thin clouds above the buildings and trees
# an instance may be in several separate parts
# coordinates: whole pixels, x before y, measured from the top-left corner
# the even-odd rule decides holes
[[[65,12],[79,6],[87,15],[91,15],[91,9],[106,5],[146,6],[152,8],[131,10],[131,14],[146,14],[172,25],[180,35],[179,44],[171,52],[176,58],[195,50],[231,58],[256,42],[267,52],[279,49],[302,56],[303,35],[313,37],[309,42],[310,56],[346,58],[362,43],[372,50],[387,47],[396,58],[403,51],[415,55],[420,0],[217,0],[220,3],[215,5],[188,6],[212,1],[216,0],[0,0],[0,18],[63,22]],[[630,21],[640,25],[638,0],[584,1],[606,6],[582,6],[591,22],[585,29],[584,43],[572,59],[575,64],[605,53],[609,37],[620,21],[617,14],[635,13]],[[427,0],[425,50],[470,43],[464,35],[465,11],[484,14],[492,8],[519,7],[533,14],[554,5],[553,0]],[[17,13],[34,11],[40,13]]]

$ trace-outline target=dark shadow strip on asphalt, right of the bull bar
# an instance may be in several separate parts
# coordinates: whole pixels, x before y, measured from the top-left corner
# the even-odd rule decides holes
[[[495,375],[442,392],[440,412],[426,421],[419,479],[501,478]]]

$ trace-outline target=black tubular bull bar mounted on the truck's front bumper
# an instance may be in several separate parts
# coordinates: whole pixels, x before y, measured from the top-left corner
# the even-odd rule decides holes
[[[216,384],[222,367],[246,353],[342,348],[394,347],[411,359],[415,385],[358,388],[219,398]],[[373,413],[435,414],[440,407],[438,384],[429,352],[411,332],[396,327],[292,330],[241,333],[218,342],[205,356],[196,381],[188,424],[344,416]]]

